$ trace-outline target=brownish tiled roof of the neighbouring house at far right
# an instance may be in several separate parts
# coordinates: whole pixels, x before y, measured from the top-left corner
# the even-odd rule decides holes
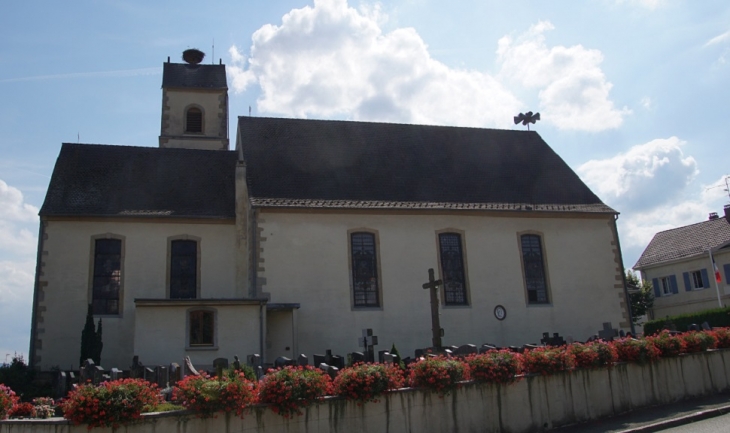
[[[728,242],[730,223],[724,217],[666,230],[654,235],[634,268],[707,254],[709,248]]]

